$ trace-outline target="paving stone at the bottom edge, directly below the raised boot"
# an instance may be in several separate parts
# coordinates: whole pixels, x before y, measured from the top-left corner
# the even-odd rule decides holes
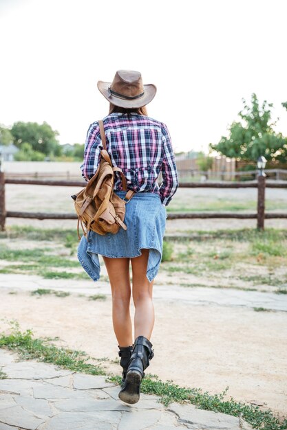
[[[147,427],[156,425],[160,420],[161,412],[156,409],[139,410],[131,409],[129,412],[123,413],[123,418],[120,420],[118,430],[142,430]]]

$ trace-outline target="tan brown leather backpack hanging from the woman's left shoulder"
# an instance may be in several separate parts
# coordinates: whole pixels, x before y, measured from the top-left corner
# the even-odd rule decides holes
[[[89,230],[105,235],[107,233],[118,233],[120,227],[127,229],[125,220],[125,205],[134,195],[134,191],[127,191],[127,180],[123,171],[113,167],[107,152],[105,130],[103,121],[98,121],[100,126],[100,137],[103,150],[100,151],[100,163],[94,176],[78,194],[74,194],[74,206],[78,214],[78,226],[81,223],[84,236]],[[127,191],[125,199],[120,199],[114,193],[114,172],[119,172],[123,183],[123,190]],[[80,234],[78,231],[78,239]]]

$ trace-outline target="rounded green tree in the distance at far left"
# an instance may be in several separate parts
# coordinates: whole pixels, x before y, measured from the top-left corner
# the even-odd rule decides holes
[[[14,144],[21,149],[23,142],[28,142],[32,150],[42,152],[47,156],[59,156],[62,153],[61,145],[56,137],[59,133],[43,122],[14,122],[11,133]]]

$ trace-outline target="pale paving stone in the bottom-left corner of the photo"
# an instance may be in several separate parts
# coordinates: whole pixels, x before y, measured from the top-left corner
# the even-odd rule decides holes
[[[1,409],[0,421],[7,425],[29,430],[36,430],[42,422],[45,422],[43,418],[36,418],[19,405]]]

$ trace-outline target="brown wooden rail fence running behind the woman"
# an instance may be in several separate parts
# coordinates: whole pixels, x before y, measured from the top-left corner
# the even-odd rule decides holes
[[[54,213],[47,214],[44,212],[14,212],[6,211],[6,198],[5,198],[5,184],[25,184],[25,185],[47,185],[47,186],[67,186],[79,187],[85,186],[84,181],[54,181],[54,180],[41,180],[41,179],[12,179],[6,178],[4,172],[0,172],[0,225],[1,230],[5,230],[6,218],[35,218],[43,219],[76,219],[76,213],[63,214]],[[259,176],[257,181],[246,182],[189,182],[180,183],[180,188],[257,188],[257,212],[253,214],[238,213],[238,212],[191,212],[191,213],[178,213],[173,212],[168,214],[168,219],[180,218],[240,218],[257,219],[257,228],[264,229],[264,219],[266,218],[287,218],[286,213],[265,213],[265,188],[287,188],[287,182],[277,183],[268,182],[264,176]]]

